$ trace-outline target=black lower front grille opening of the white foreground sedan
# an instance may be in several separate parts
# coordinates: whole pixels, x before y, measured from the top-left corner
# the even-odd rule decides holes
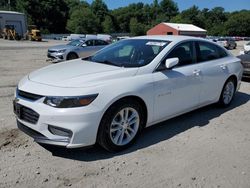
[[[39,119],[39,114],[30,108],[21,106],[20,119],[28,123],[36,124]]]

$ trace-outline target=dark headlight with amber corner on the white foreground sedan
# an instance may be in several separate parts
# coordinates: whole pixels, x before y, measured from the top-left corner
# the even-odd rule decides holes
[[[98,94],[76,97],[46,97],[44,104],[55,108],[75,108],[89,105]]]

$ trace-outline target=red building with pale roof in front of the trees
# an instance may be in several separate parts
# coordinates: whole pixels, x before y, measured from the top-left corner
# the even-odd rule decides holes
[[[162,22],[148,30],[147,35],[187,35],[206,37],[207,31],[192,24]]]

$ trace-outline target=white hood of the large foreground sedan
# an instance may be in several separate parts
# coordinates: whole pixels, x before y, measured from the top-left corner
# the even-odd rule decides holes
[[[124,68],[81,59],[50,65],[28,75],[32,82],[56,87],[91,87],[107,80],[134,76],[138,68]]]

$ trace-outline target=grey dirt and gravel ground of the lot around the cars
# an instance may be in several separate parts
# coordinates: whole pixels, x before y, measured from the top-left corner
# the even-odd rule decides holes
[[[15,86],[50,64],[59,41],[0,39],[0,187],[250,187],[250,84],[232,105],[214,105],[147,128],[130,149],[43,148],[16,128]],[[242,49],[238,44],[234,54]]]

